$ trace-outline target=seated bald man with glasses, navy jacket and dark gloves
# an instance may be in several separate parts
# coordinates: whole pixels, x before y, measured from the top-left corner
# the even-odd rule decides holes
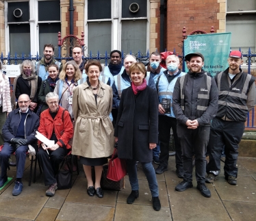
[[[30,99],[27,94],[18,97],[18,107],[8,115],[3,125],[3,149],[0,152],[1,177],[0,187],[7,181],[7,168],[10,155],[16,155],[16,181],[14,182],[13,196],[21,194],[23,183],[23,171],[25,168],[26,153],[28,144],[37,147],[36,130],[39,127],[39,118],[36,113],[29,109]]]

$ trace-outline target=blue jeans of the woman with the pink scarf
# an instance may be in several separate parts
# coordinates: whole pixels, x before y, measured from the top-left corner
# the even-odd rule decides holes
[[[157,177],[155,175],[155,170],[153,168],[152,162],[141,163],[146,179],[149,183],[149,189],[151,191],[152,197],[159,196]],[[133,159],[127,159],[127,172],[129,175],[129,181],[131,184],[131,190],[139,190],[139,183],[137,177],[137,164]]]

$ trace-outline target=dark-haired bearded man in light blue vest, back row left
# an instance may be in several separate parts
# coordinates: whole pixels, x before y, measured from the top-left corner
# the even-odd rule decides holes
[[[54,54],[54,46],[53,44],[44,44],[44,57],[40,60],[40,62],[36,62],[36,75],[42,78],[42,81],[46,80],[49,76],[47,66],[50,64],[57,64],[59,70],[62,70],[62,63],[57,62],[53,58]]]

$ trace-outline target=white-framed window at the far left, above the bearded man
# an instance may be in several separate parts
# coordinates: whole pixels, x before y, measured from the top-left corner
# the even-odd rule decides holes
[[[5,1],[5,53],[42,55],[44,44],[57,47],[60,0]]]

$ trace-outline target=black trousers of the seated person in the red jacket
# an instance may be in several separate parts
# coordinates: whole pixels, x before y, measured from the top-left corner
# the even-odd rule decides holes
[[[38,151],[38,160],[40,161],[40,165],[42,166],[42,170],[44,170],[44,184],[51,185],[56,183],[57,180],[55,176],[59,171],[59,166],[64,157],[67,154],[66,146],[59,147],[55,151],[48,150],[44,151],[42,146],[39,147]]]

